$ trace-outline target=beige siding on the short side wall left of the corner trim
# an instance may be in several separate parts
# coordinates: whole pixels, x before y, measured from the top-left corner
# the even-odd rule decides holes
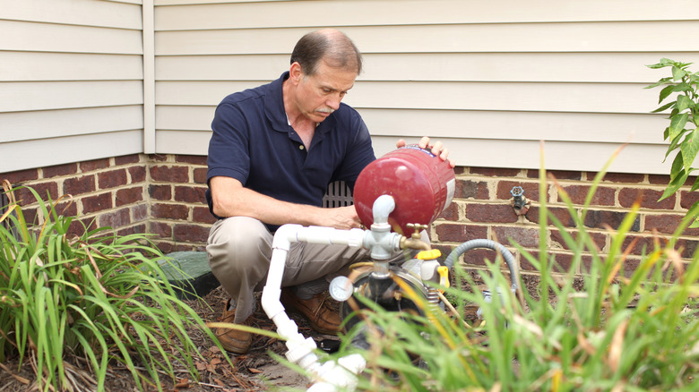
[[[142,152],[141,2],[0,10],[0,172]]]

